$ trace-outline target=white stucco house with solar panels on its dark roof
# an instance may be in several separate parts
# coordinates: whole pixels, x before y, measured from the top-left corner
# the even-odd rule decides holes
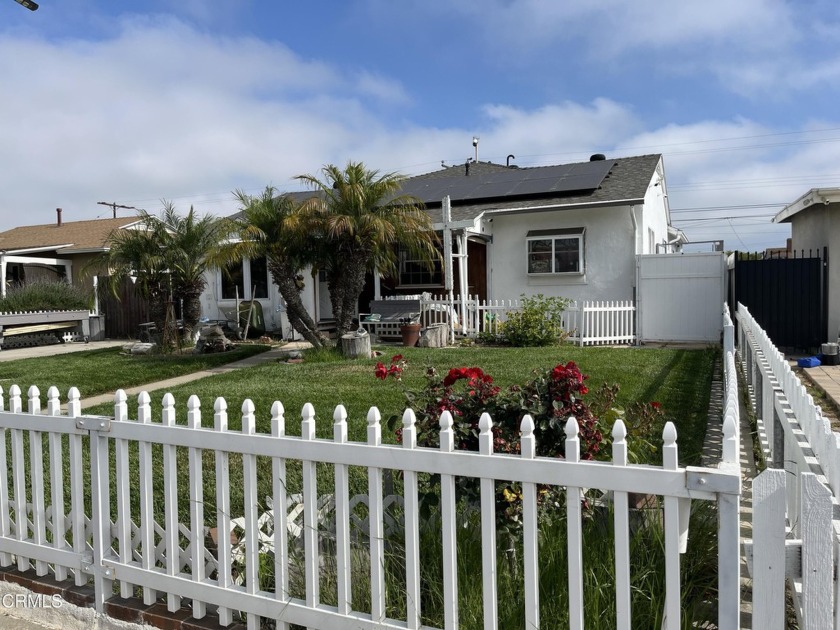
[[[599,154],[588,162],[528,168],[470,162],[407,178],[402,192],[421,199],[434,229],[451,235],[456,297],[507,300],[542,293],[631,300],[636,256],[678,252],[686,242],[671,226],[661,155],[605,159]],[[302,200],[312,193],[290,194]],[[449,221],[443,218],[445,198]],[[397,277],[371,278],[359,309],[364,312],[370,299],[388,295],[443,294],[447,267],[429,270],[401,258]],[[211,318],[235,300],[231,279],[214,275],[203,297]],[[245,261],[236,277],[241,277],[240,297],[250,297],[254,286],[262,291],[256,297],[264,302],[267,320],[281,314],[282,301],[266,279],[263,262]],[[311,285],[304,294],[310,312],[319,321],[329,320],[323,278],[306,275],[305,282]],[[280,323],[276,316],[275,323]]]

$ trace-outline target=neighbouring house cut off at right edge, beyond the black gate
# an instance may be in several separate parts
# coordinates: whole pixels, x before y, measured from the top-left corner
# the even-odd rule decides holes
[[[828,251],[828,341],[840,336],[840,188],[812,188],[785,206],[773,223],[790,223],[790,249]]]

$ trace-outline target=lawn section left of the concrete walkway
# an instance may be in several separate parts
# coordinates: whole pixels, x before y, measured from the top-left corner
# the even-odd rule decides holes
[[[0,363],[0,387],[8,394],[11,385],[18,385],[25,397],[29,387],[35,385],[44,397],[54,385],[63,402],[71,387],[78,387],[82,398],[87,398],[218,367],[269,349],[270,346],[242,344],[231,352],[216,354],[176,352],[144,356],[126,354],[117,347],[20,359]],[[113,409],[106,413],[112,415]]]

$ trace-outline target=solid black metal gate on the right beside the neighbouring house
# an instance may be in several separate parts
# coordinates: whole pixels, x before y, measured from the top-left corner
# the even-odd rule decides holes
[[[777,347],[811,352],[833,340],[828,334],[828,248],[796,254],[759,258],[735,252],[729,304],[746,306]]]

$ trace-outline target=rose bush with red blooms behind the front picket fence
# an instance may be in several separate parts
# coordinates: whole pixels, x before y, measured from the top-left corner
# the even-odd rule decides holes
[[[377,363],[374,374],[381,380],[389,376],[401,381],[407,363],[402,355],[391,359],[390,366]],[[493,383],[493,377],[479,367],[458,367],[450,369],[442,378],[433,367],[426,370],[426,385],[419,392],[404,390],[408,406],[417,418],[415,424],[417,443],[425,447],[440,446],[440,416],[444,411],[452,414],[452,431],[456,448],[477,451],[479,447],[479,419],[487,412],[493,419],[493,451],[518,454],[520,452],[520,424],[525,414],[534,421],[534,437],[537,455],[544,457],[565,457],[566,422],[572,416],[578,422],[582,460],[605,458],[603,449],[604,431],[621,417],[631,432],[649,432],[654,423],[664,424],[659,403],[636,403],[622,410],[615,405],[618,386],[604,385],[594,394],[593,406],[584,401],[589,393],[587,376],[581,373],[573,362],[559,363],[553,368],[535,370],[532,378],[524,385],[514,385],[502,390]],[[395,430],[397,439],[402,437],[400,417],[391,416],[388,426]],[[644,433],[643,433],[644,434]],[[631,442],[644,452],[637,453],[635,460],[655,447],[646,440],[634,437]],[[632,456],[632,453],[631,453]],[[477,480],[458,478],[460,496],[470,503],[478,503]],[[519,484],[498,481],[496,503],[499,525],[505,529],[517,526],[522,509],[522,494]],[[538,501],[541,505],[559,506],[557,488],[541,487]]]

